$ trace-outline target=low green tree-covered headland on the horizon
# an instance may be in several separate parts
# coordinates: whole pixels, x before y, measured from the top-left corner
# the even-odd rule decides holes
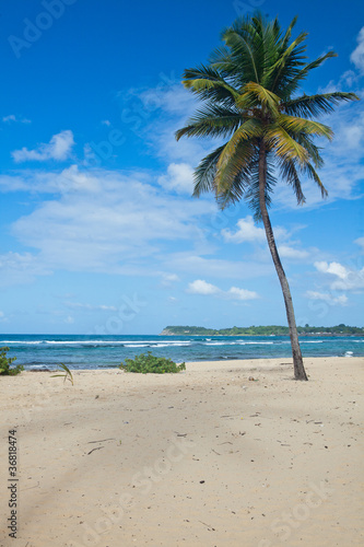
[[[343,336],[343,335],[360,335],[364,336],[364,327],[350,327],[341,323],[334,327],[312,327],[305,325],[297,327],[297,331],[302,336],[327,335],[327,336]],[[232,328],[206,328],[195,326],[168,326],[165,327],[161,336],[287,336],[289,327],[280,325],[265,325],[250,327],[232,327]]]

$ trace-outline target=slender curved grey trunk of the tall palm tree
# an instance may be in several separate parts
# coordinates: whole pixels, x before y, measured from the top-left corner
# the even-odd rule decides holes
[[[272,230],[272,225],[270,223],[270,218],[267,210],[266,205],[266,181],[267,181],[267,153],[265,149],[265,144],[260,144],[259,150],[259,205],[261,218],[265,224],[267,241],[270,254],[272,255],[272,259],[275,266],[275,270],[282,287],[286,318],[290,328],[290,337],[291,337],[291,346],[292,346],[292,356],[293,356],[293,366],[294,366],[294,377],[295,380],[308,380],[306,375],[306,371],[304,368],[301,347],[298,342],[298,334],[296,327],[296,319],[294,317],[294,310],[292,303],[292,296],[290,291],[289,281],[285,277],[285,272],[278,254],[274,234]]]

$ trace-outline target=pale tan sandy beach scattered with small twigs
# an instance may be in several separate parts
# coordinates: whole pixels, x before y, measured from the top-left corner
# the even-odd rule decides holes
[[[1,377],[0,545],[364,545],[364,362],[305,365],[309,382],[292,380],[290,359],[80,371],[74,386]]]

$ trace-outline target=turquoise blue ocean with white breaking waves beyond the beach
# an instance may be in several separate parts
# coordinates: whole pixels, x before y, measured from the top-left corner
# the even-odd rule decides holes
[[[0,335],[0,346],[25,370],[113,368],[148,351],[176,362],[292,357],[286,336]],[[364,337],[302,337],[301,348],[304,357],[364,357]]]

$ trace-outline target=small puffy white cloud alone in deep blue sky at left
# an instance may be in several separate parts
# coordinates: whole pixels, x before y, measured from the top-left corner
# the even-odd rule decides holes
[[[14,150],[11,155],[16,163],[26,161],[45,162],[47,160],[63,161],[70,156],[73,144],[72,131],[66,130],[54,135],[47,144],[42,143],[35,150],[28,150],[27,148]]]

